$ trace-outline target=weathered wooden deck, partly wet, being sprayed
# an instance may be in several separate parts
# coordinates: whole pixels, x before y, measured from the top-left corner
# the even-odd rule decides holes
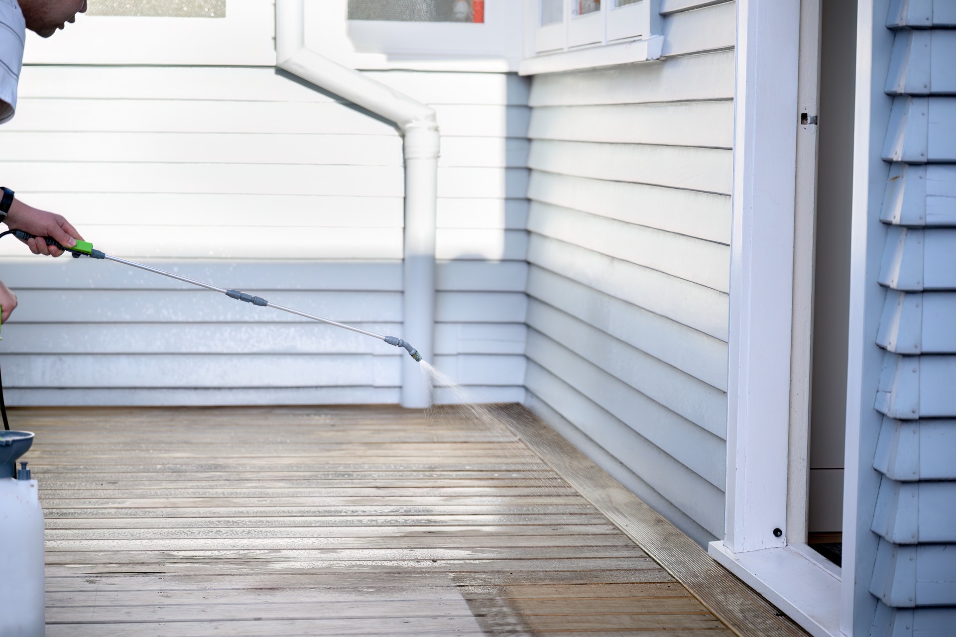
[[[50,637],[802,634],[735,581],[688,591],[542,459],[589,462],[527,414],[11,412],[37,435]],[[699,550],[670,567],[692,589]],[[732,631],[700,601],[728,596]]]

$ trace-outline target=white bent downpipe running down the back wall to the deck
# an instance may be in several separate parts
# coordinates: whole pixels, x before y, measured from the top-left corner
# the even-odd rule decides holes
[[[439,132],[435,111],[423,103],[319,55],[305,46],[305,0],[275,2],[275,65],[394,121],[404,136],[405,235],[402,338],[424,360],[435,342],[435,208]],[[402,407],[426,408],[431,396],[419,364],[402,356]]]

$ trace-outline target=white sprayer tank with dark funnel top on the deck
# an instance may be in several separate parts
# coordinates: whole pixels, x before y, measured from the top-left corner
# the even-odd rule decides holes
[[[43,575],[43,509],[36,480],[17,457],[33,434],[0,431],[0,635],[42,637],[46,633]],[[19,453],[17,453],[19,452]],[[25,465],[26,463],[24,463]],[[18,479],[22,478],[22,479]]]

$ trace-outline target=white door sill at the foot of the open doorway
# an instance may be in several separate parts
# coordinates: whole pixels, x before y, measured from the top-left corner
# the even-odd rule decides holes
[[[707,553],[814,637],[839,637],[839,567],[807,544],[733,553],[712,541]]]

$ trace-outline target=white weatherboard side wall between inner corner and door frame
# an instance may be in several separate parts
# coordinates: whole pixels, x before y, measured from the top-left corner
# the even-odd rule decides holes
[[[526,384],[704,542],[724,533],[735,8],[665,5],[662,60],[532,80]]]

